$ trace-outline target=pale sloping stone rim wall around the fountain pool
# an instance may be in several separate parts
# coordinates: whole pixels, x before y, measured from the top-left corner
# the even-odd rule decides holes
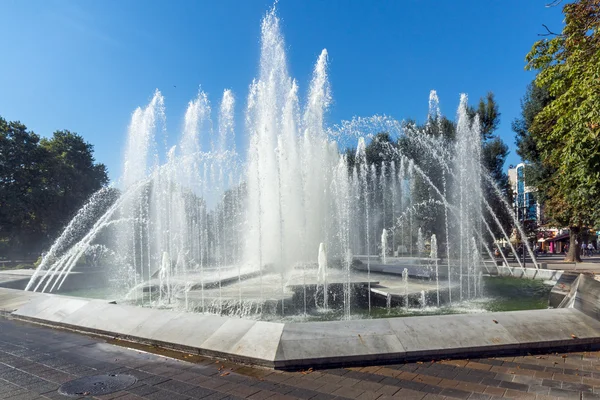
[[[110,304],[0,288],[13,318],[277,369],[432,360],[600,344],[589,313],[600,283],[587,278],[575,307],[378,320],[279,323]],[[590,289],[591,288],[591,289]],[[578,300],[579,299],[579,300]],[[594,300],[596,299],[596,300]],[[578,304],[587,308],[579,308]]]

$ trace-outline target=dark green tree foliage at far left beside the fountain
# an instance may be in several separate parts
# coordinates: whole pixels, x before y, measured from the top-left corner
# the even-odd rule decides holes
[[[0,247],[2,255],[39,253],[92,193],[108,183],[93,146],[69,131],[40,139],[20,122],[0,118]]]

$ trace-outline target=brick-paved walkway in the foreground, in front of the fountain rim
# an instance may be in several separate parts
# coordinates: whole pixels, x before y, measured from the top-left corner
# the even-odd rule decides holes
[[[0,399],[69,399],[60,384],[106,373],[138,382],[98,399],[600,399],[600,352],[290,373],[155,350],[0,317]]]

